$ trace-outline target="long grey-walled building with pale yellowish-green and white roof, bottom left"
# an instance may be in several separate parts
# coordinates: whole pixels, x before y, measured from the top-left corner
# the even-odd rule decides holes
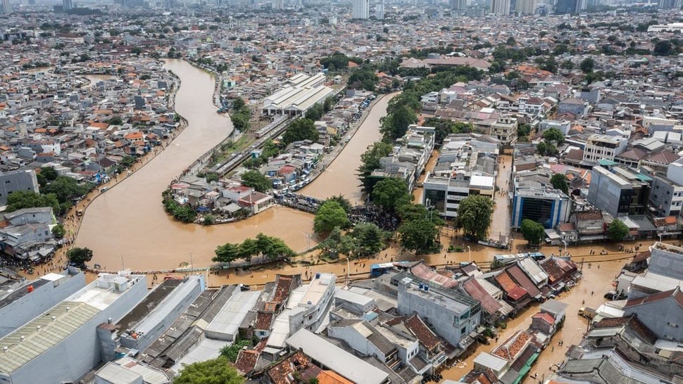
[[[97,326],[118,321],[146,294],[144,275],[99,276],[0,338],[0,383],[61,384],[78,380],[101,361]]]

